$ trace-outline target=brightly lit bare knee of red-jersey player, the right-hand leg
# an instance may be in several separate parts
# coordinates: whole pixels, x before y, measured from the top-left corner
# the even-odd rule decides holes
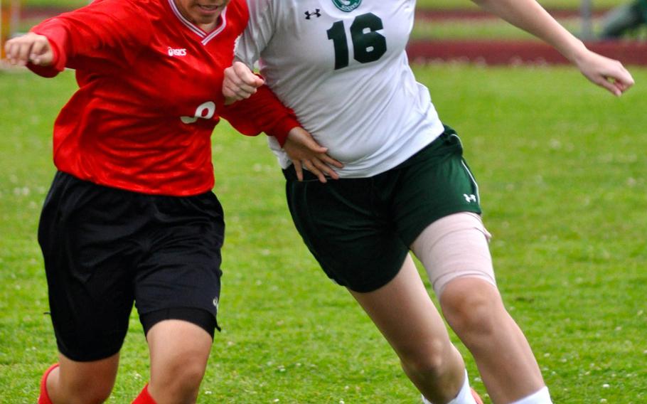
[[[188,321],[164,320],[146,339],[151,351],[149,393],[156,403],[196,403],[211,351],[208,332]]]

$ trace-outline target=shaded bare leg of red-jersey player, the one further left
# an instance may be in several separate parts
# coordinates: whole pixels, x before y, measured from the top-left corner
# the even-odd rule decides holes
[[[58,354],[60,366],[46,381],[52,403],[99,404],[108,399],[117,378],[119,353],[100,361],[77,362]]]

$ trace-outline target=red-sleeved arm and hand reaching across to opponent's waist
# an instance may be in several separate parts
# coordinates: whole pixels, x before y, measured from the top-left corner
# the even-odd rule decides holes
[[[284,107],[267,86],[255,87],[253,94],[244,100],[225,105],[220,110],[220,116],[242,134],[255,136],[265,132],[275,137],[292,160],[299,181],[303,179],[303,168],[324,183],[326,176],[339,178],[333,167],[341,168],[343,164],[326,154],[328,149],[321,147],[301,127],[294,112]]]

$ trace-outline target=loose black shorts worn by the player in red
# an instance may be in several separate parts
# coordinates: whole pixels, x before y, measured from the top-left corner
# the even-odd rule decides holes
[[[58,172],[38,242],[59,351],[74,361],[114,355],[133,302],[146,330],[186,312],[187,321],[207,313],[217,326],[224,232],[211,192],[146,195]]]

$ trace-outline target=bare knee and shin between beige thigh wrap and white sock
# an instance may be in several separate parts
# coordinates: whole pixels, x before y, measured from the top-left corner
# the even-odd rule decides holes
[[[440,302],[447,322],[474,356],[493,403],[512,403],[545,386],[533,351],[496,287],[459,277],[447,284]]]

